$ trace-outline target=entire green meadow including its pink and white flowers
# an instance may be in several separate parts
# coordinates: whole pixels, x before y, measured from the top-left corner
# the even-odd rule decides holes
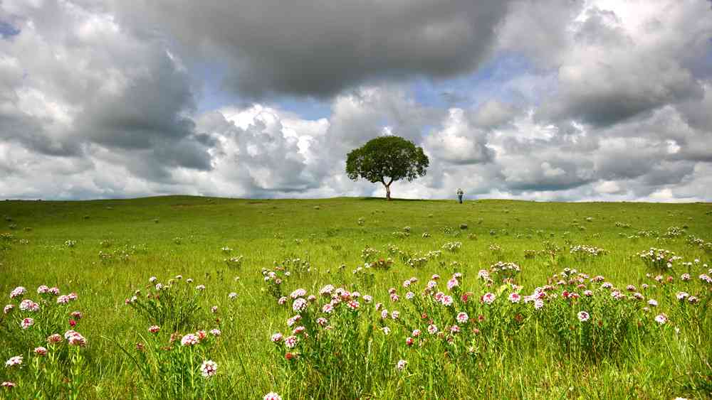
[[[0,217],[2,399],[712,396],[711,204],[169,196]]]

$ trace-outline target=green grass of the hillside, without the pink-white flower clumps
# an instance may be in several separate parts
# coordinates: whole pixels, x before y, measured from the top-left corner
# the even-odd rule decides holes
[[[47,285],[57,286],[63,293],[78,294],[72,308],[80,310],[83,318],[75,329],[88,340],[82,351],[90,360],[83,364],[80,398],[159,396],[151,386],[152,378],[140,378],[135,363],[144,356],[145,364],[158,360],[151,358],[151,352],[134,348],[137,342],[150,341],[147,328],[153,322],[125,305],[125,300],[138,289],[142,290],[139,297],[151,293],[151,276],[167,283],[177,275],[182,275],[182,281],[194,279],[193,285],[203,284],[206,289],[195,300],[201,309],[194,313],[192,322],[176,330],[185,334],[219,328],[221,336],[205,355],[219,365],[216,377],[206,379],[209,384],[181,381],[181,391],[173,396],[257,399],[270,391],[281,394],[283,399],[711,395],[712,347],[707,334],[712,328],[707,307],[711,293],[710,285],[698,279],[707,273],[708,267],[703,264],[712,264],[711,254],[704,247],[712,240],[711,204],[478,200],[459,205],[449,200],[167,196],[80,202],[4,201],[0,202],[0,217],[4,217],[0,220],[1,293],[24,286],[28,289],[26,296],[37,300],[35,288]],[[702,242],[693,243],[696,238]],[[572,254],[571,249],[577,245],[603,249],[604,253]],[[672,269],[651,269],[637,256],[650,247],[671,250],[681,259],[674,262]],[[365,251],[367,248],[374,250]],[[387,262],[389,258],[392,266],[387,270],[353,272],[365,261]],[[489,270],[498,261],[520,266],[521,272],[512,283],[521,288],[496,280],[488,286],[478,279],[478,271]],[[261,273],[263,268],[278,274],[291,272],[283,277],[284,294],[305,288],[318,296],[320,288],[330,283],[370,294],[373,303],[382,302],[403,316],[397,321],[381,320],[379,311],[366,309],[362,301],[364,308],[353,325],[356,328],[352,328],[357,337],[352,340],[355,346],[362,341],[366,347],[355,347],[354,354],[348,357],[351,353],[344,350],[339,356],[343,357],[341,364],[310,355],[315,347],[298,347],[303,352],[299,360],[285,360],[289,351],[276,351],[270,336],[276,332],[287,335],[290,328],[285,321],[294,312],[270,296]],[[610,315],[616,315],[618,306],[604,303],[608,300],[590,306],[584,300],[561,303],[563,286],[555,283],[565,268],[590,277],[602,275],[627,296],[632,291],[627,291],[626,286],[636,286],[645,299],[637,306],[625,306],[621,315],[630,312],[630,320],[642,322],[628,326],[614,320]],[[405,345],[405,338],[412,335],[416,326],[425,330],[436,325],[437,318],[443,321],[441,329],[442,324],[454,326],[454,313],[450,315],[430,303],[393,303],[388,289],[397,288],[403,296],[406,289],[402,283],[415,277],[417,290],[413,291],[421,296],[431,276],[439,274],[442,279],[438,290],[449,293],[444,284],[456,272],[463,274],[458,279],[463,293],[470,291],[477,299],[486,292],[496,293],[497,301],[503,304],[495,313],[481,301],[475,301],[476,305],[459,304],[456,298],[455,307],[468,310],[470,318],[483,315],[508,320],[513,315],[523,322],[507,328],[487,325],[486,321],[478,322],[481,325],[468,322],[463,325],[468,333],[466,341],[459,342],[463,336],[457,336],[448,342],[448,337],[455,337],[449,334],[424,339],[418,349]],[[684,273],[693,279],[682,282],[680,276]],[[554,274],[559,275],[552,278]],[[674,281],[667,286],[659,283],[653,279],[658,274],[664,279],[671,276]],[[547,299],[543,310],[575,315],[574,310],[598,307],[601,316],[591,315],[593,320],[601,321],[602,328],[595,332],[585,330],[566,322],[571,316],[568,314],[542,317],[529,305],[521,310],[506,308],[513,307],[506,303],[507,293],[519,291],[525,296],[548,283],[555,286],[550,293],[556,296]],[[641,289],[644,283],[649,285],[648,293]],[[597,296],[602,290],[599,283],[594,287],[590,279],[586,285],[597,290]],[[675,298],[678,291],[689,292],[701,301],[695,308],[682,309]],[[237,297],[229,298],[231,292]],[[192,298],[194,293],[184,296]],[[429,295],[423,298],[422,301],[431,301]],[[649,298],[660,303],[659,309],[643,310]],[[209,311],[211,306],[217,306],[216,313]],[[369,307],[373,308],[373,304]],[[420,318],[419,307],[429,307],[431,315]],[[670,323],[662,327],[654,323],[661,310],[670,318]],[[0,324],[6,327],[0,330],[0,356],[7,360],[24,354],[29,362],[33,357],[31,348],[40,343],[32,342],[38,339],[28,335],[21,336],[32,328],[14,332],[18,329],[13,318],[18,317],[4,315]],[[57,318],[65,323],[69,317]],[[435,322],[430,324],[432,320]],[[556,325],[561,321],[564,322]],[[384,326],[389,327],[389,335],[382,334]],[[335,327],[335,331],[339,329]],[[171,330],[162,329],[163,344],[168,343]],[[473,333],[475,330],[478,332]],[[585,335],[592,335],[592,339]],[[320,337],[312,336],[303,338],[300,346]],[[323,340],[320,351],[342,354],[333,347],[324,347],[343,345],[339,341],[342,339],[325,336]],[[610,346],[605,347],[610,351],[599,354],[604,348],[602,343],[611,340]],[[376,345],[380,352],[374,350]],[[358,355],[357,350],[363,355]],[[401,359],[408,366],[398,371],[394,366]],[[362,369],[358,360],[372,364]],[[68,372],[70,359],[64,362],[58,365],[58,373],[65,374],[68,380],[79,379]],[[338,370],[336,365],[345,370]],[[327,367],[330,372],[323,370]],[[19,372],[11,368],[0,372],[1,380],[22,382],[14,392],[3,392],[5,396],[30,393],[19,390],[34,382],[29,370],[28,364]],[[70,392],[65,386],[59,385],[55,393]]]

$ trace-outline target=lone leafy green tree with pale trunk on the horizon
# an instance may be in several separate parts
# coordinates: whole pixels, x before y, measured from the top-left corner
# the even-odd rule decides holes
[[[346,173],[352,180],[364,178],[382,183],[386,198],[391,200],[391,183],[400,179],[410,182],[423,176],[429,164],[423,148],[416,147],[412,141],[399,136],[381,136],[348,153]]]

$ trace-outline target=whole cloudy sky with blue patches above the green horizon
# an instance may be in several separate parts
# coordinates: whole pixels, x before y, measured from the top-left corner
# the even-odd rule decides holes
[[[0,0],[0,197],[712,200],[709,0]]]

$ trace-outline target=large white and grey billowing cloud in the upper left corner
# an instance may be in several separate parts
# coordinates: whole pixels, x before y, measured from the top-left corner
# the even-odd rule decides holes
[[[186,116],[189,77],[157,38],[65,1],[4,1],[19,33],[0,40],[0,138],[49,156],[92,146],[128,158],[132,173],[208,170],[207,144]]]

